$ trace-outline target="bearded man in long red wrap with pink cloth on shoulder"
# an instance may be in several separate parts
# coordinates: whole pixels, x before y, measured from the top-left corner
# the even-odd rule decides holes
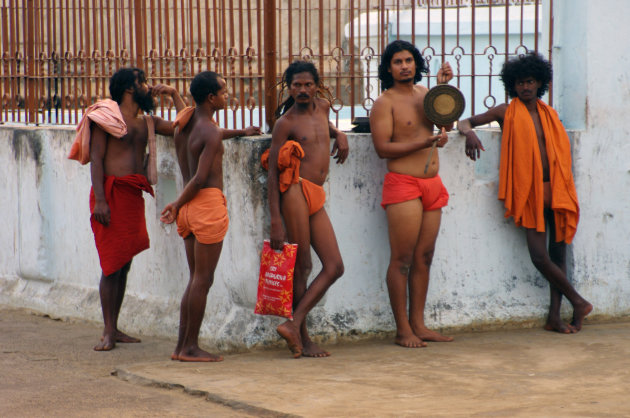
[[[153,183],[157,180],[155,132],[173,134],[171,122],[142,112],[152,112],[154,97],[163,94],[173,98],[178,110],[184,107],[177,90],[149,86],[138,68],[118,70],[110,79],[109,92],[113,100],[87,109],[69,155],[84,164],[91,161],[90,222],[103,270],[99,293],[105,325],[96,351],[109,351],[116,342],[140,342],[118,329],[118,315],[131,260],[149,248],[142,191],[153,195],[147,175]]]

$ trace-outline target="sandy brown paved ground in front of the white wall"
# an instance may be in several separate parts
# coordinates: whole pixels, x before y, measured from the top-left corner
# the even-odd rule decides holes
[[[403,349],[371,340],[180,363],[144,337],[92,351],[98,324],[0,308],[0,416],[630,416],[630,323],[460,333]],[[170,388],[170,389],[169,389]]]

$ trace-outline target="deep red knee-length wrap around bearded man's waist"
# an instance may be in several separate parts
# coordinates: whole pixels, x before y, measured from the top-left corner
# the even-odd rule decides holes
[[[90,217],[94,241],[105,276],[120,270],[138,253],[149,248],[142,191],[153,196],[153,188],[142,174],[105,176],[105,200],[110,222],[104,226]],[[90,213],[94,212],[94,191],[90,190]]]

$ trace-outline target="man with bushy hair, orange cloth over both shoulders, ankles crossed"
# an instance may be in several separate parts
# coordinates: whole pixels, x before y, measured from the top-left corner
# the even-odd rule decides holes
[[[505,203],[505,217],[514,217],[525,228],[532,262],[549,282],[545,329],[571,334],[582,328],[593,305],[567,280],[566,244],[573,240],[580,209],[569,137],[556,111],[540,100],[551,75],[551,64],[536,53],[507,61],[501,80],[513,100],[460,121],[458,130],[466,137],[466,155],[475,161],[484,148],[472,128],[490,122],[501,126],[499,199]],[[560,317],[562,295],[573,305],[570,324]]]

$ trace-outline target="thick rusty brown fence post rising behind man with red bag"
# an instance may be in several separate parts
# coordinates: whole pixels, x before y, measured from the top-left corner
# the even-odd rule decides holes
[[[276,97],[276,1],[265,0],[264,68],[265,68],[265,120],[269,131],[275,122]]]

